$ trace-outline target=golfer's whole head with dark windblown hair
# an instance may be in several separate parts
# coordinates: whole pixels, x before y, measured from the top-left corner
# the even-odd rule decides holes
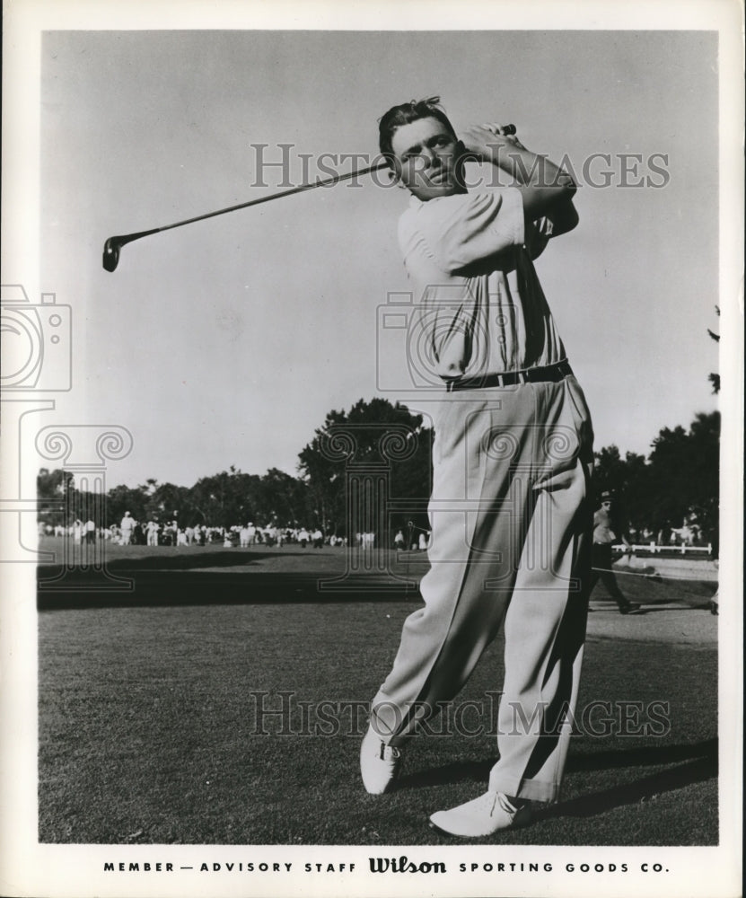
[[[439,97],[393,106],[379,121],[379,148],[394,176],[426,201],[464,193],[464,145]]]

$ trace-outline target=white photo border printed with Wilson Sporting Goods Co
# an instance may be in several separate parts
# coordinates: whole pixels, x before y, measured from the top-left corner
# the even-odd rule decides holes
[[[3,670],[2,713],[2,803],[0,819],[0,882],[4,894],[49,896],[76,895],[285,895],[294,892],[340,895],[548,895],[589,894],[605,896],[654,894],[702,895],[718,898],[738,894],[741,882],[741,796],[742,718],[733,709],[742,709],[742,238],[743,238],[743,85],[742,85],[742,6],[725,0],[701,0],[680,4],[663,0],[648,3],[598,2],[566,4],[505,2],[498,4],[366,4],[349,9],[338,3],[243,2],[155,2],[115,4],[66,2],[66,0],[20,0],[5,4],[4,10],[4,119],[3,119],[3,261],[4,271],[19,282],[33,300],[39,290],[39,71],[40,40],[47,30],[140,30],[168,29],[178,10],[180,29],[312,29],[360,31],[417,31],[424,23],[438,22],[442,30],[511,28],[520,30],[716,30],[720,35],[720,233],[721,233],[721,404],[725,409],[722,431],[722,525],[729,534],[722,547],[720,592],[728,597],[721,605],[719,620],[719,731],[720,747],[720,833],[718,847],[687,848],[584,848],[552,846],[406,846],[376,847],[377,855],[399,857],[409,854],[418,862],[445,860],[456,864],[494,859],[495,852],[511,861],[553,864],[557,875],[494,878],[448,875],[417,876],[417,881],[401,877],[363,875],[370,849],[366,846],[123,846],[39,844],[36,798],[36,691],[37,648],[34,575],[31,565],[4,564],[0,568],[3,586],[3,630],[0,635],[0,664]],[[465,16],[465,10],[469,15]],[[499,22],[499,25],[498,25]],[[4,447],[17,432],[4,433]],[[18,437],[20,439],[20,437]],[[18,445],[18,451],[28,446]],[[5,457],[5,453],[3,453]],[[10,495],[13,472],[4,465],[2,496]],[[28,485],[26,485],[28,487]],[[31,487],[33,490],[33,487]],[[28,495],[28,493],[26,494]],[[31,493],[32,495],[32,493]],[[0,515],[4,518],[4,515]],[[13,526],[2,522],[0,538],[12,542]],[[356,771],[355,771],[356,772]],[[105,875],[105,861],[141,863],[169,859],[181,865],[224,864],[258,861],[285,863],[294,867],[306,861],[355,863],[355,874],[338,874],[313,879],[310,876],[268,877],[222,875],[165,877]],[[576,864],[594,864],[624,859],[630,873],[622,881],[609,876],[588,874],[562,876],[560,871],[572,859]],[[654,880],[640,872],[640,864],[662,864],[670,871]],[[296,868],[297,868],[296,867]],[[601,878],[602,877],[602,878]],[[486,889],[499,891],[487,893]],[[8,890],[9,889],[9,890]],[[507,889],[508,891],[504,891]],[[683,890],[683,891],[682,891]]]

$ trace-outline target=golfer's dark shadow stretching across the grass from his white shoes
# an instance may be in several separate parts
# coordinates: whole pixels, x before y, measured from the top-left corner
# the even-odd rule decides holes
[[[494,759],[486,761],[455,762],[434,770],[420,770],[399,780],[397,791],[424,786],[445,786],[463,781],[486,783]],[[591,817],[603,814],[615,807],[635,805],[646,798],[684,788],[717,776],[717,739],[707,739],[690,745],[637,747],[615,749],[571,757],[567,772],[590,770],[621,770],[629,767],[676,766],[669,770],[625,782],[592,795],[560,802],[536,814],[537,820],[556,817]]]

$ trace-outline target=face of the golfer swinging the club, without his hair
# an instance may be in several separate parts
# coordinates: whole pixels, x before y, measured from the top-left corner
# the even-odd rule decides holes
[[[397,177],[418,199],[464,193],[461,142],[438,119],[417,119],[394,131]]]

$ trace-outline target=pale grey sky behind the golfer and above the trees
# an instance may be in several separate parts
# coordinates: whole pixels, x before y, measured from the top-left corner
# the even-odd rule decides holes
[[[386,389],[404,335],[380,326],[408,291],[403,190],[363,178],[158,233],[113,273],[101,251],[274,192],[282,144],[294,184],[301,154],[312,177],[321,154],[373,158],[385,110],[440,94],[457,130],[512,122],[573,165],[580,225],[537,270],[596,448],[649,453],[716,408],[717,62],[714,31],[46,31],[39,289],[72,309],[57,415],[127,427],[110,485],[189,486],[295,473],[329,409],[406,401]]]

